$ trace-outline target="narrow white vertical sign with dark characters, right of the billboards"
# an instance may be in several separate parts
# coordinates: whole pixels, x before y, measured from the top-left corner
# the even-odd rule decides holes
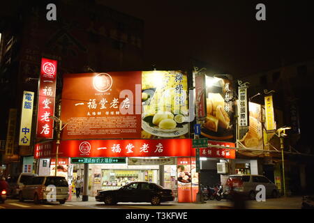
[[[239,87],[239,126],[248,126],[248,93],[246,87]]]

